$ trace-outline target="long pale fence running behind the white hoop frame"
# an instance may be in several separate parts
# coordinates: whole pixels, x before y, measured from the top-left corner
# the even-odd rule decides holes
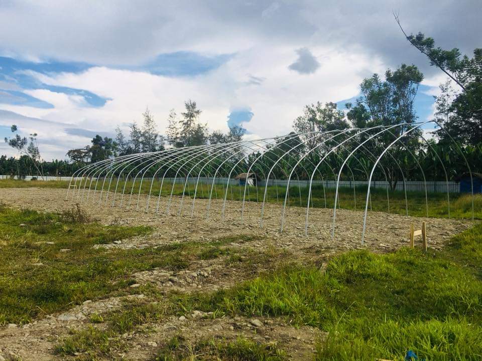
[[[31,180],[32,175],[27,175],[25,177],[25,180]],[[0,175],[0,179],[10,179],[10,175]],[[15,177],[17,179],[17,177]],[[37,177],[38,180],[40,180],[40,177]],[[80,179],[80,177],[76,177],[76,179]],[[138,178],[139,180],[140,178]],[[159,181],[162,179],[162,177],[159,179]],[[44,180],[70,180],[69,176],[44,176]],[[144,178],[143,182],[151,182],[152,178]],[[175,180],[176,184],[183,184],[186,182],[186,178],[184,177],[166,177],[164,178],[164,183],[173,183]],[[188,178],[188,183],[189,184],[196,184],[198,178],[196,176],[194,177],[189,177]],[[212,177],[199,177],[199,183],[203,184],[212,184],[213,178]],[[228,178],[227,177],[216,177],[214,179],[214,184],[227,184],[228,183]],[[239,184],[239,180],[237,179],[229,179],[229,184],[235,186]],[[286,179],[270,179],[268,181],[268,186],[282,186],[286,187],[288,184],[288,181]],[[335,188],[336,187],[336,180],[313,180],[313,186],[321,186],[323,184],[325,188]],[[260,180],[258,182],[259,186],[265,186],[266,182],[264,180]],[[298,180],[298,179],[292,179],[290,180],[290,187],[308,187],[309,181],[308,180]],[[367,186],[367,181],[366,180],[340,180],[340,187],[343,188],[353,188],[353,187],[362,187],[362,186]],[[407,189],[407,192],[425,192],[425,186],[427,187],[427,192],[431,193],[445,193],[447,192],[447,183],[446,182],[440,182],[440,181],[429,181],[426,183],[416,181],[416,180],[409,180],[405,182],[405,188]],[[388,187],[388,182],[386,180],[373,180],[372,181],[372,188],[376,189],[387,189]],[[404,189],[404,183],[403,181],[399,181],[397,183],[396,190],[397,191],[403,191]],[[459,193],[460,192],[460,183],[458,182],[448,182],[448,191],[450,193]]]

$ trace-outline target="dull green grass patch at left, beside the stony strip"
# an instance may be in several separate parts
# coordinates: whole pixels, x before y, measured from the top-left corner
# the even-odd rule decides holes
[[[0,207],[0,324],[22,324],[86,299],[124,292],[130,274],[139,270],[188,264],[177,251],[92,247],[146,234],[148,227],[61,222],[64,218]]]

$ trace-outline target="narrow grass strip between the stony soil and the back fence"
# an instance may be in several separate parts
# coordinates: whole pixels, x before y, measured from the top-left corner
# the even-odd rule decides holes
[[[108,188],[108,180],[105,184],[105,190]],[[124,188],[125,182],[119,182],[117,186],[117,202],[120,202],[120,194]],[[6,179],[0,180],[0,188],[13,188],[13,187],[40,187],[40,188],[67,188],[68,182],[57,182],[48,181],[42,182],[37,180],[35,182],[24,181],[24,180],[13,180]],[[139,187],[141,182],[136,181],[134,185],[134,194],[139,192]],[[95,187],[95,182],[92,184],[92,189]],[[97,185],[98,190],[102,187],[102,180],[99,180]],[[129,202],[129,195],[133,187],[133,182],[129,181],[126,183],[126,194],[127,198],[124,198],[124,204]],[[202,184],[199,185],[196,198],[206,199],[208,198],[211,185]],[[83,184],[82,184],[83,188]],[[88,187],[87,187],[88,188]],[[151,189],[151,182],[147,180],[142,183],[141,193],[149,194]],[[184,186],[182,184],[175,184],[174,189],[172,189],[172,184],[164,183],[162,187],[161,195],[163,197],[168,197],[173,190],[173,195],[180,196],[183,193]],[[115,190],[115,182],[113,181],[110,187],[110,191]],[[159,196],[159,191],[161,190],[161,182],[157,180],[154,182],[152,187],[152,195],[156,197]],[[256,189],[253,187],[248,187],[246,200],[250,202],[262,202],[264,187],[258,188],[258,194]],[[242,200],[245,191],[244,186],[232,186],[228,189],[227,199],[228,200]],[[248,193],[249,192],[249,193]],[[213,189],[212,198],[213,199],[224,199],[225,189],[222,185],[215,185]],[[286,188],[277,186],[269,186],[267,190],[266,201],[269,203],[283,204],[285,198]],[[98,197],[99,192],[97,191],[96,197]],[[186,187],[185,194],[187,197],[194,196],[194,185],[188,185]],[[333,189],[326,189],[323,193],[322,186],[315,185],[312,188],[312,206],[314,208],[324,208],[325,207],[325,196],[326,196],[326,207],[333,208],[335,193]],[[338,196],[338,206],[343,209],[358,210],[361,211],[365,209],[365,201],[367,196],[367,187],[356,187],[355,191],[349,188],[340,188]],[[308,190],[307,188],[290,187],[288,204],[293,207],[306,207]],[[408,212],[410,216],[425,217],[427,215],[425,206],[425,193],[424,192],[407,192],[408,198]],[[383,189],[372,189],[371,191],[371,207],[373,211],[388,212],[388,202],[387,202],[387,192]],[[405,193],[400,191],[389,192],[390,200],[390,213],[406,214],[406,204],[405,204]],[[133,202],[137,202],[137,198],[133,197]],[[155,207],[151,203],[152,207]],[[185,207],[189,207],[185,205]],[[446,193],[428,193],[428,216],[446,218],[448,217],[448,207],[447,207],[447,195]],[[472,217],[471,213],[471,197],[466,194],[452,193],[450,194],[450,217],[457,219],[470,219]],[[474,200],[474,218],[482,219],[482,195],[475,195]]]

